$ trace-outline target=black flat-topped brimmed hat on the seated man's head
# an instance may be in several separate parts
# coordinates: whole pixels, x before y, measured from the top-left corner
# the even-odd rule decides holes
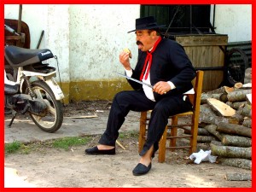
[[[165,25],[158,25],[156,23],[154,16],[148,16],[148,17],[138,18],[135,24],[136,29],[130,32],[135,32],[137,30],[143,30],[143,29],[156,29],[163,26]]]

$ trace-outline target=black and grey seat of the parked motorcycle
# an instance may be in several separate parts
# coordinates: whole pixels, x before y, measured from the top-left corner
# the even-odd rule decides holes
[[[6,46],[4,52],[12,67],[24,67],[54,57],[49,49],[26,49],[14,45]]]

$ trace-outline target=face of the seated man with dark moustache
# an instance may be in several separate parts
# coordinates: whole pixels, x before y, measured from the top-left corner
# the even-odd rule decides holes
[[[141,49],[142,51],[147,51],[154,46],[156,37],[155,31],[148,33],[148,30],[137,30],[135,34],[138,49]]]

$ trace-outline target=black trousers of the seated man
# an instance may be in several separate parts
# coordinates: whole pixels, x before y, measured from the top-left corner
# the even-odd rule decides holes
[[[191,103],[189,100],[183,101],[183,95],[166,96],[158,102],[152,102],[145,96],[143,90],[121,91],[113,98],[108,115],[107,129],[99,143],[115,146],[115,141],[119,137],[119,129],[125,122],[125,116],[130,110],[136,112],[153,110],[148,122],[147,141],[140,155],[143,156],[153,144],[155,153],[159,148],[159,141],[165,131],[168,117],[191,109]],[[154,153],[152,157],[154,157]]]

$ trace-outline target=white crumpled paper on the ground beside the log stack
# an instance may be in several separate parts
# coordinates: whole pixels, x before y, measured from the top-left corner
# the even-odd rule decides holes
[[[200,149],[198,153],[193,153],[189,156],[190,160],[195,160],[194,163],[200,164],[201,161],[209,161],[211,163],[216,162],[217,156],[211,155],[211,150],[203,151]]]

